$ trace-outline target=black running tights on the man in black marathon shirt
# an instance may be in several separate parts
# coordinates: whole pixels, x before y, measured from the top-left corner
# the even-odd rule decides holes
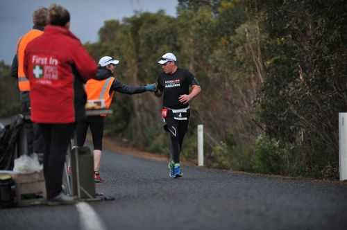
[[[168,113],[165,118],[164,130],[169,132],[171,139],[171,156],[174,163],[180,163],[180,152],[182,150],[183,139],[188,131],[190,110],[184,115],[187,120],[176,120],[174,114]]]

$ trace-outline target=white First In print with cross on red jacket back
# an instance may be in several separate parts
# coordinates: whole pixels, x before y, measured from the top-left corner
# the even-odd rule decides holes
[[[33,76],[38,83],[51,85],[58,80],[58,60],[51,56],[33,55]]]

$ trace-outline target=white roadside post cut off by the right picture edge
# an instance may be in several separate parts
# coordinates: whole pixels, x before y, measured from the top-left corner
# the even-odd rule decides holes
[[[339,113],[340,181],[347,179],[347,113]]]

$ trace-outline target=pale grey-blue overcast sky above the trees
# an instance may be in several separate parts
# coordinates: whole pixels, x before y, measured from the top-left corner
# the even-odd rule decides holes
[[[176,17],[176,0],[0,0],[0,61],[12,63],[17,40],[33,27],[33,11],[58,3],[70,12],[71,31],[81,42],[96,42],[103,21],[131,17],[135,11],[165,10]]]

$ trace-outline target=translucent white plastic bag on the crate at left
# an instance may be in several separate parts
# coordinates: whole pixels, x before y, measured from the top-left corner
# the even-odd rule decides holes
[[[19,173],[31,173],[40,172],[42,168],[43,167],[39,163],[37,154],[33,153],[30,156],[22,155],[15,159],[15,167],[13,168],[13,171]]]

